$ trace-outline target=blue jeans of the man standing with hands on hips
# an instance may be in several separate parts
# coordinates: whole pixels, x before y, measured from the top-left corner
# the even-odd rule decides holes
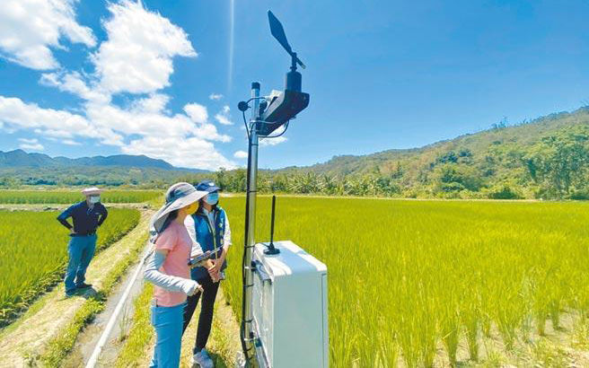
[[[94,256],[96,234],[73,236],[67,245],[69,262],[66,270],[66,294],[75,292],[75,288],[84,284],[86,269]]]

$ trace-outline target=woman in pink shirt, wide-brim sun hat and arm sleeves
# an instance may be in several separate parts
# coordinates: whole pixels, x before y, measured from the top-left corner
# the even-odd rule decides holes
[[[190,279],[189,259],[191,250],[193,253],[194,250],[184,220],[194,214],[198,199],[206,195],[207,192],[198,191],[189,183],[176,183],[168,189],[165,205],[150,223],[155,250],[147,262],[144,278],[155,285],[152,324],[157,335],[150,367],[175,368],[180,365],[186,296],[202,290]]]

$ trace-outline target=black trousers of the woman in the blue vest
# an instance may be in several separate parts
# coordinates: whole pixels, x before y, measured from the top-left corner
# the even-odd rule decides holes
[[[213,311],[215,311],[216,292],[219,290],[219,283],[214,283],[211,276],[197,280],[198,284],[202,285],[204,291],[191,295],[186,300],[186,307],[184,308],[184,327],[182,328],[182,335],[188,327],[192,314],[197,308],[198,299],[202,294],[202,302],[200,304],[200,316],[198,316],[198,330],[197,340],[194,344],[194,354],[197,354],[205,346],[207,346],[208,336],[211,333],[211,325],[213,324]]]

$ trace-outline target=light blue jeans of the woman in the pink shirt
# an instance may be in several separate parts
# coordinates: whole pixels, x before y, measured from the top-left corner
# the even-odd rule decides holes
[[[177,368],[180,366],[182,343],[182,302],[173,307],[152,306],[152,324],[155,329],[155,347],[151,368]]]

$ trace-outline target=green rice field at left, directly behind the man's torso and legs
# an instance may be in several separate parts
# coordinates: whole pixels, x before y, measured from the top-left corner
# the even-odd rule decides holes
[[[68,232],[57,212],[0,212],[0,327],[35,296],[63,277]],[[118,241],[139,221],[139,212],[111,208],[98,231],[97,251]]]

